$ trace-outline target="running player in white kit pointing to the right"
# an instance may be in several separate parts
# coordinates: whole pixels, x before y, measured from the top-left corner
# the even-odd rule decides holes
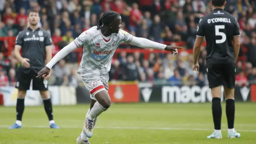
[[[78,144],[90,144],[88,138],[98,120],[98,116],[111,105],[108,95],[108,72],[112,57],[119,44],[132,44],[141,48],[154,48],[178,54],[176,46],[167,46],[146,38],[132,36],[121,28],[121,16],[117,12],[107,11],[99,19],[98,26],[83,32],[73,42],[58,52],[46,66],[38,72],[37,78],[45,78],[50,69],[70,52],[83,46],[83,56],[78,73],[86,88],[90,91],[91,106],[86,114],[84,128],[76,139]]]

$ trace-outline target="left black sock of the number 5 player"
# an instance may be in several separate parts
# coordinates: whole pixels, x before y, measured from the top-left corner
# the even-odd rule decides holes
[[[220,98],[212,98],[212,116],[213,116],[215,130],[220,130],[221,115],[222,115],[222,109],[221,109]]]

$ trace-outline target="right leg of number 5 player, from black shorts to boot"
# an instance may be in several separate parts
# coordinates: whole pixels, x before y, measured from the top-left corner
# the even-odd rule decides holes
[[[226,116],[228,120],[228,138],[239,138],[240,133],[234,129],[235,120],[235,100],[234,100],[234,86],[235,86],[235,65],[227,64],[225,66],[225,86],[224,96],[226,99]]]

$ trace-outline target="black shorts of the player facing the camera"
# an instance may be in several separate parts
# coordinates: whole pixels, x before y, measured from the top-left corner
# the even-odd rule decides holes
[[[37,79],[37,73],[40,69],[37,68],[23,68],[18,69],[16,88],[19,90],[29,90],[30,82],[33,80],[33,90],[46,91],[48,90],[48,81],[44,79]]]

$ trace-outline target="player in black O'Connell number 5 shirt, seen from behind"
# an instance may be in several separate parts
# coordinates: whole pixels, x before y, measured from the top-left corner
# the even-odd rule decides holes
[[[203,38],[206,39],[206,72],[212,92],[212,116],[214,132],[207,138],[222,138],[221,134],[221,86],[224,86],[226,98],[226,116],[228,119],[228,138],[239,138],[234,130],[234,86],[235,63],[240,49],[240,30],[234,16],[225,12],[226,0],[212,0],[213,11],[202,17],[198,24],[194,44],[193,70],[198,71],[198,57]]]

